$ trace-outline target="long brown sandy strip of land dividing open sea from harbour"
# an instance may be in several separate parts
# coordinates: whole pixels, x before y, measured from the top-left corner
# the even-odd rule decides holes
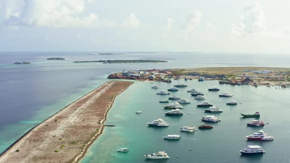
[[[2,153],[0,163],[76,163],[101,135],[115,97],[132,81],[108,81],[61,109]]]

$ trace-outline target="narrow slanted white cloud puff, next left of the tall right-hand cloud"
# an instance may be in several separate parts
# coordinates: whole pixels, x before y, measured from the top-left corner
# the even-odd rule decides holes
[[[202,13],[198,10],[190,13],[185,23],[185,31],[194,30],[200,24],[201,18]]]

